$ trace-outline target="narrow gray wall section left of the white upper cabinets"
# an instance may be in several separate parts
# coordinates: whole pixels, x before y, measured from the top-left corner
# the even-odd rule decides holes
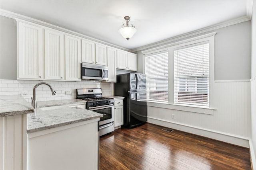
[[[0,16],[0,79],[17,79],[17,28],[14,19]]]

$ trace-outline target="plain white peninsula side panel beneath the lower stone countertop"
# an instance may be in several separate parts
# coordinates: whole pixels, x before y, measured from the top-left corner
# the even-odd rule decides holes
[[[27,169],[98,169],[96,119],[27,134]]]

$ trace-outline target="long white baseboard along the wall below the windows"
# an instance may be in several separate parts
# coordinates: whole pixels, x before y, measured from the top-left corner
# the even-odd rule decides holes
[[[220,131],[214,131],[211,129],[205,129],[205,128],[196,127],[196,126],[192,126],[192,125],[186,125],[186,124],[177,123],[177,122],[170,122],[170,121],[166,121],[164,119],[158,119],[158,118],[154,118],[154,117],[148,117],[147,122],[153,123],[156,125],[160,125],[160,126],[164,126],[164,127],[169,127],[172,129],[177,129],[177,130],[188,132],[188,133],[192,133],[195,135],[208,137],[211,139],[216,139],[218,141],[223,141],[223,142],[230,143],[233,145],[238,145],[238,146],[242,146],[242,147],[246,147],[246,148],[250,147],[249,141],[248,141],[249,139],[246,137],[238,136],[238,135],[232,135],[232,134],[223,133]]]

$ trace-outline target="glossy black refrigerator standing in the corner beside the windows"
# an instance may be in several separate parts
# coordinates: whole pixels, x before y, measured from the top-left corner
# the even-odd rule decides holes
[[[124,96],[124,127],[132,128],[147,121],[146,75],[116,75],[115,96]]]

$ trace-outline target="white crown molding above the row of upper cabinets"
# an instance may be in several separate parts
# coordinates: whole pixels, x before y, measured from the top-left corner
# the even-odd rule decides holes
[[[7,10],[3,10],[3,9],[0,9],[0,16],[4,16],[4,17],[8,17],[8,18],[12,18],[14,19],[15,21],[17,20],[24,20],[24,21],[27,21],[27,22],[32,22],[32,23],[35,23],[35,24],[39,24],[39,25],[43,25],[45,27],[49,27],[49,28],[52,28],[52,29],[57,29],[58,31],[62,31],[62,32],[65,32],[65,33],[69,33],[69,34],[72,34],[72,35],[76,35],[78,37],[82,37],[82,38],[85,38],[85,39],[89,39],[91,41],[95,41],[97,43],[102,43],[104,45],[108,45],[110,47],[114,47],[114,48],[117,48],[117,49],[122,49],[124,51],[128,51],[130,52],[131,50],[130,49],[126,49],[124,47],[120,47],[118,45],[113,45],[113,44],[110,44],[110,43],[107,43],[105,41],[101,41],[99,39],[95,39],[93,37],[89,37],[87,35],[84,35],[84,34],[81,34],[81,33],[77,33],[75,31],[72,31],[72,30],[69,30],[69,29],[66,29],[66,28],[63,28],[63,27],[59,27],[59,26],[56,26],[56,25],[53,25],[53,24],[50,24],[50,23],[47,23],[47,22],[44,22],[44,21],[40,21],[40,20],[36,20],[34,18],[30,18],[30,17],[27,17],[27,16],[23,16],[23,15],[20,15],[20,14],[17,14],[17,13],[14,13],[14,12],[10,12],[10,11],[7,11]]]

